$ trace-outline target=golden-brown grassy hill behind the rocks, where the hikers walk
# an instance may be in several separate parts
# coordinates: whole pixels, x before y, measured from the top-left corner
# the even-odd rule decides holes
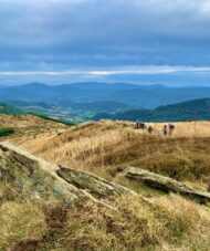
[[[136,129],[133,123],[91,122],[50,138],[38,137],[24,146],[50,161],[106,178],[113,166],[126,164],[179,180],[197,181],[207,189],[210,123],[197,123],[196,137],[195,123],[176,123],[174,135],[166,138],[161,135],[162,124],[153,126],[155,133],[149,135]]]

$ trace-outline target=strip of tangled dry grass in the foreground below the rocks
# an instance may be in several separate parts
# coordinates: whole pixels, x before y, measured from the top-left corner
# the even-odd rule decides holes
[[[125,196],[113,199],[112,206],[116,210],[93,201],[63,209],[53,201],[43,206],[32,200],[6,202],[0,209],[0,250],[28,250],[34,244],[30,250],[209,248],[209,211],[191,201],[171,196],[149,205]]]

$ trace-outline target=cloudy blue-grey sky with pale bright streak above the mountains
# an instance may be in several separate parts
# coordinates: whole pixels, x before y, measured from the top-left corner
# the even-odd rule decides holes
[[[209,0],[0,0],[0,84],[210,86]]]

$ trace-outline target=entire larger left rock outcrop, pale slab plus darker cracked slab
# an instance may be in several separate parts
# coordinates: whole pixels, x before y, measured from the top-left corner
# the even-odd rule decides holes
[[[12,185],[21,195],[67,202],[135,194],[94,175],[48,163],[9,143],[0,144],[0,181]]]

